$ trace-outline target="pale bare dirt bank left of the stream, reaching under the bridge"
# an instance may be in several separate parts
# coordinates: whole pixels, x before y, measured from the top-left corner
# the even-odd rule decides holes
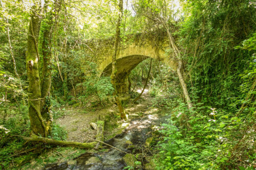
[[[141,92],[141,89],[138,89],[137,92]],[[138,100],[139,104],[130,103],[124,108],[126,114],[129,118],[145,114],[145,112],[148,112],[147,109],[152,105],[151,100],[152,98],[148,94],[148,90],[145,89],[141,98]],[[113,118],[113,116],[115,117],[118,114],[118,108],[115,104],[99,110],[86,110],[68,107],[65,108],[63,112],[64,116],[58,118],[56,123],[65,128],[68,132],[68,141],[90,141],[87,136],[95,136],[97,133],[95,130],[90,128],[90,123],[96,122],[99,116],[109,119],[109,126],[107,125],[107,129],[105,129],[106,138],[110,138],[111,135],[115,135],[115,133],[118,133],[118,131],[123,129],[125,126],[125,124],[118,126],[123,123],[123,120]],[[129,122],[129,120],[127,120],[127,122]]]

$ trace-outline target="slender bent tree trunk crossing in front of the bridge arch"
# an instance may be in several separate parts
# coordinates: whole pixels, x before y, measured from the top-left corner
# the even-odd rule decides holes
[[[118,15],[118,20],[117,20],[117,25],[116,25],[116,37],[115,37],[115,44],[114,44],[114,55],[112,56],[112,74],[111,74],[111,83],[114,86],[114,98],[115,101],[117,103],[119,112],[121,114],[121,118],[126,119],[124,110],[123,110],[123,106],[121,103],[121,100],[118,96],[118,92],[116,89],[116,73],[117,73],[117,67],[116,67],[116,56],[117,56],[117,50],[118,50],[118,45],[120,42],[120,25],[121,25],[121,21],[122,21],[122,15],[123,15],[123,0],[119,1],[119,15]]]

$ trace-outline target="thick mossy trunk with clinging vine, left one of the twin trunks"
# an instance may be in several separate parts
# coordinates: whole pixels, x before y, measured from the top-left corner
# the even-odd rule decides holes
[[[42,1],[38,1],[32,7],[31,20],[28,30],[27,73],[29,78],[29,118],[32,134],[46,137],[49,127],[41,115],[41,87],[38,70],[38,36],[41,25]]]

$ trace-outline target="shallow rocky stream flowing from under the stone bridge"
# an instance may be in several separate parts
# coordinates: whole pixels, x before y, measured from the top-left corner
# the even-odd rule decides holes
[[[137,116],[136,116],[137,117]],[[145,155],[146,139],[152,137],[153,127],[159,127],[161,123],[166,123],[170,116],[163,115],[160,111],[155,111],[150,114],[143,114],[143,117],[137,117],[131,120],[130,125],[119,135],[104,141],[119,150],[131,154]],[[103,145],[104,146],[104,145]],[[66,169],[102,169],[102,170],[119,170],[126,165],[123,157],[125,153],[120,152],[111,147],[104,147],[103,151],[97,153],[85,153],[74,159],[74,163],[69,162],[53,163],[45,166],[45,170],[66,170]],[[144,148],[144,151],[143,151]],[[148,147],[147,147],[148,148]],[[148,149],[147,149],[148,150]],[[149,152],[150,153],[150,152]],[[151,154],[152,155],[152,154]],[[145,163],[148,163],[145,158],[140,160],[142,166],[140,169],[145,169]]]

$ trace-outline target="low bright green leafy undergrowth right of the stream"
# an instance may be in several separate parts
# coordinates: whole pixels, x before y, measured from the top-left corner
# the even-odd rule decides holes
[[[255,134],[247,134],[246,142],[241,145],[246,151],[238,149],[239,160],[231,159],[234,158],[234,146],[245,135],[240,131],[240,128],[246,128],[245,120],[244,116],[234,117],[225,110],[217,111],[202,105],[191,112],[179,102],[173,118],[163,124],[164,129],[160,131],[163,138],[158,142],[159,154],[155,158],[158,169],[219,169],[250,165],[254,157],[251,139]]]

